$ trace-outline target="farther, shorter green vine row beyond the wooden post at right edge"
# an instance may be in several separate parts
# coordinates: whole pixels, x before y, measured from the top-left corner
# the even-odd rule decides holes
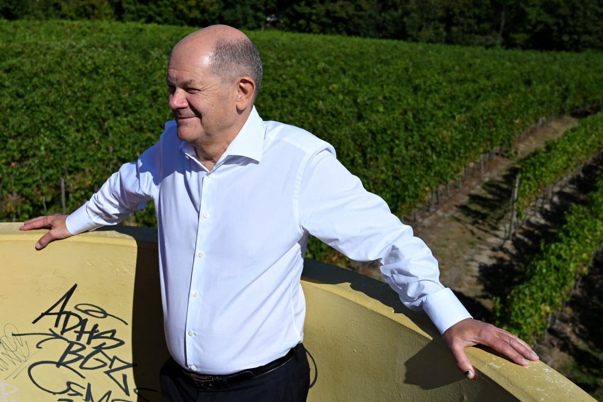
[[[517,213],[520,217],[547,186],[566,177],[576,167],[589,162],[603,149],[603,112],[582,119],[542,151],[529,154],[521,162],[517,189]]]

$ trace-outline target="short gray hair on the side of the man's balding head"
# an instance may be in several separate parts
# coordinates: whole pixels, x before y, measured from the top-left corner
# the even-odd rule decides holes
[[[256,83],[253,98],[257,97],[264,69],[260,53],[250,39],[218,39],[210,58],[213,74],[223,83],[233,83],[242,75],[251,77]]]

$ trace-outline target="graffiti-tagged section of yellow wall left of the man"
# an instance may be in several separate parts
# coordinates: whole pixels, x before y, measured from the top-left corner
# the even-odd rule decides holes
[[[18,227],[0,224],[0,402],[159,400],[168,353],[155,231],[36,251],[43,231]]]

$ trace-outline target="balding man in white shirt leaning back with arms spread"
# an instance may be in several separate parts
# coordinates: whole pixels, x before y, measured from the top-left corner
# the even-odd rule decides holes
[[[166,83],[174,121],[136,163],[123,165],[69,216],[41,216],[36,244],[116,224],[153,199],[170,359],[164,400],[303,401],[308,360],[300,286],[309,234],[355,260],[380,260],[385,280],[428,313],[459,368],[484,344],[520,365],[538,357],[507,331],[473,320],[438,279],[437,262],[412,230],[297,127],[265,122],[254,100],[257,49],[216,25],[174,47]],[[216,399],[214,399],[216,398]]]

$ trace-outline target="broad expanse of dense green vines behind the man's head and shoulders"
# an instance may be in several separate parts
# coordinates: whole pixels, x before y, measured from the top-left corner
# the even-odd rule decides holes
[[[75,209],[171,118],[165,67],[192,28],[0,21],[0,220]],[[250,32],[257,108],[335,145],[397,215],[542,116],[603,99],[603,54]],[[150,209],[136,215],[151,225]]]

